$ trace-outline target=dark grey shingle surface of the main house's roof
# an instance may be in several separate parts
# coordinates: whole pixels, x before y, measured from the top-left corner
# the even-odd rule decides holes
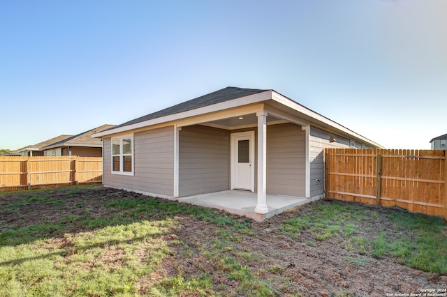
[[[149,121],[152,119],[160,118],[161,116],[169,116],[171,114],[178,114],[179,112],[187,112],[192,109],[205,107],[208,105],[213,105],[221,102],[226,102],[229,100],[242,98],[245,96],[253,95],[256,93],[262,93],[264,91],[268,90],[258,90],[258,89],[241,89],[236,88],[234,86],[227,86],[225,89],[221,89],[219,91],[215,91],[212,93],[209,93],[204,96],[200,96],[198,98],[194,98],[191,100],[188,100],[186,102],[179,103],[177,105],[168,107],[166,109],[162,109],[158,112],[154,112],[152,114],[147,114],[146,116],[141,116],[138,119],[133,119],[132,121],[128,121],[126,123],[122,123],[121,125],[116,125],[113,127],[119,128],[126,125],[132,125],[135,123],[140,123],[143,121]]]

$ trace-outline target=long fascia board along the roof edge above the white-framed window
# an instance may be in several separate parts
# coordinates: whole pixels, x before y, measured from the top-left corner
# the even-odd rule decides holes
[[[97,138],[97,137],[104,137],[106,135],[112,135],[112,134],[116,134],[116,133],[120,133],[120,132],[126,132],[129,130],[135,130],[138,128],[144,128],[147,127],[149,125],[157,125],[160,123],[167,123],[170,121],[178,121],[180,119],[185,119],[185,118],[189,118],[191,116],[200,116],[202,114],[208,114],[210,112],[217,112],[219,110],[223,110],[223,109],[230,109],[230,108],[234,108],[234,107],[240,107],[242,105],[249,105],[249,104],[253,104],[256,102],[262,102],[265,100],[270,100],[272,98],[272,91],[268,90],[268,91],[264,91],[262,93],[256,93],[253,95],[249,95],[249,96],[245,96],[245,97],[241,97],[241,98],[236,98],[233,100],[228,100],[226,102],[220,102],[214,105],[207,105],[204,107],[198,107],[196,109],[191,109],[191,110],[187,110],[186,112],[179,112],[177,114],[170,114],[168,116],[161,116],[159,118],[156,119],[151,119],[148,121],[142,121],[140,123],[134,123],[132,125],[125,125],[123,127],[119,127],[119,128],[115,128],[112,130],[107,130],[107,131],[103,131],[103,132],[98,132],[95,133],[94,135],[91,135],[92,138]]]

